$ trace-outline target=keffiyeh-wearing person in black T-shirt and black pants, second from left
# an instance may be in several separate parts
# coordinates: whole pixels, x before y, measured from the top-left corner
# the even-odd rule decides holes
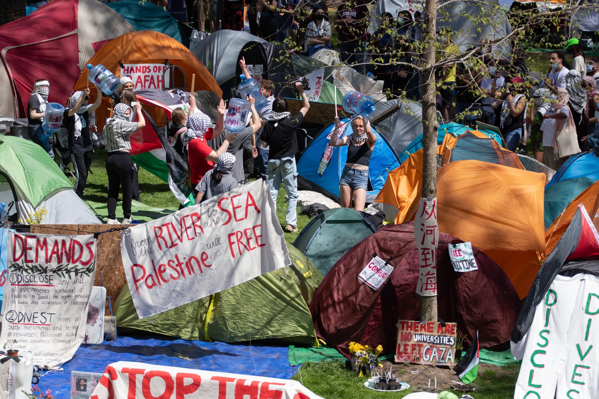
[[[92,164],[93,140],[89,131],[89,115],[102,102],[102,95],[96,95],[96,101],[89,103],[89,89],[74,92],[67,101],[67,108],[62,123],[68,132],[69,159],[61,161],[63,167],[72,162],[75,171],[75,193],[83,198],[83,190],[87,182],[87,172]],[[65,157],[63,157],[65,158]]]

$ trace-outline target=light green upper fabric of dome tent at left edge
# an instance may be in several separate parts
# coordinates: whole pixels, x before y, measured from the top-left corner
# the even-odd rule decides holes
[[[0,136],[0,171],[10,176],[19,197],[34,208],[50,194],[73,188],[40,146],[20,137]]]

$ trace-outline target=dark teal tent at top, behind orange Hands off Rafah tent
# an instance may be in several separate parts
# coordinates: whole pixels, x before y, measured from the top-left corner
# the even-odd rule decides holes
[[[156,31],[180,41],[189,48],[189,35],[185,26],[167,13],[162,7],[149,1],[123,0],[106,3],[120,14],[136,31]]]

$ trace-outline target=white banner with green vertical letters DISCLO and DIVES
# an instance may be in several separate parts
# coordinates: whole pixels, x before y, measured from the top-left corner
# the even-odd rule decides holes
[[[599,397],[598,315],[599,278],[555,277],[528,330],[514,398]]]

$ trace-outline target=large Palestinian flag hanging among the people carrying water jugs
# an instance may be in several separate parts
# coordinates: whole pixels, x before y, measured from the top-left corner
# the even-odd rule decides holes
[[[187,185],[187,161],[168,143],[164,128],[159,129],[143,110],[146,126],[131,135],[131,159],[168,183],[173,195],[182,205],[195,203]]]

